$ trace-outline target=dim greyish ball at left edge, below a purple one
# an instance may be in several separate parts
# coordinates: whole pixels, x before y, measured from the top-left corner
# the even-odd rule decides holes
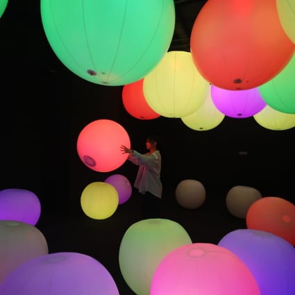
[[[0,285],[19,265],[45,254],[48,254],[47,240],[35,226],[0,220]]]

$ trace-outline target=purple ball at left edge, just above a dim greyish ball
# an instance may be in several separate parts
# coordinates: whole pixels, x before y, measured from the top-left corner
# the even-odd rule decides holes
[[[2,189],[0,191],[0,220],[15,220],[35,226],[40,218],[38,197],[27,189]]]

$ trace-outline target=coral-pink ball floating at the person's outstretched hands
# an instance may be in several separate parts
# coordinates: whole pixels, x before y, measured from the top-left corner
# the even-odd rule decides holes
[[[130,138],[126,130],[109,119],[92,121],[78,136],[77,151],[82,162],[92,170],[113,171],[128,158],[128,153],[120,151],[121,144],[130,148]]]

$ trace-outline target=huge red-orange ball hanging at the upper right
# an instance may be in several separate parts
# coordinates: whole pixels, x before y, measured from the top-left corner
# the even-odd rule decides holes
[[[287,65],[295,44],[278,18],[276,0],[210,0],[190,37],[201,75],[226,90],[247,90],[271,80]]]

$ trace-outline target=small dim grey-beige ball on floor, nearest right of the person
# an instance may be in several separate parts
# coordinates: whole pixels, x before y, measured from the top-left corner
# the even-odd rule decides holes
[[[185,179],[178,183],[175,190],[176,201],[186,209],[196,209],[205,202],[206,191],[203,184],[194,179]]]

